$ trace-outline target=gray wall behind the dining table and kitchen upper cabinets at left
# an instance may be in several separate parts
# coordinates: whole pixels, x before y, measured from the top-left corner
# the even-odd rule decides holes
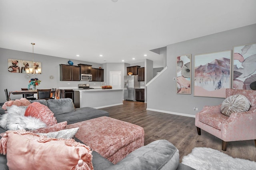
[[[0,48],[0,102],[6,102],[4,89],[8,91],[20,90],[20,88],[27,88],[28,81],[24,73],[11,73],[8,72],[8,59],[20,59],[32,61],[32,53],[15,51],[9,49]],[[88,82],[88,81],[60,81],[60,66],[59,64],[68,64],[68,59],[53,57],[48,55],[34,55],[34,61],[42,63],[42,74],[33,75],[31,78],[38,78],[42,80],[38,89],[46,88],[59,88],[59,87],[78,87],[80,83],[88,83],[90,86],[101,86],[102,82]],[[104,69],[103,64],[90,63],[78,60],[72,60],[74,65],[77,64],[90,64],[94,68],[99,68],[100,66]],[[104,69],[105,72],[105,69]],[[54,76],[51,80],[49,76]],[[104,79],[106,80],[105,76]],[[22,95],[11,95],[12,100],[20,99]]]

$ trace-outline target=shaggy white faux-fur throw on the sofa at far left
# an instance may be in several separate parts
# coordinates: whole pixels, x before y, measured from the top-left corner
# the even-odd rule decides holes
[[[35,130],[46,127],[46,124],[41,119],[24,116],[27,107],[16,105],[7,107],[6,113],[0,117],[0,126],[6,130]]]

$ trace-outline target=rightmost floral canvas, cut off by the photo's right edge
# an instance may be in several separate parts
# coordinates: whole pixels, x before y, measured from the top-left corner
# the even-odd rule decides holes
[[[256,43],[233,47],[233,88],[256,90]]]

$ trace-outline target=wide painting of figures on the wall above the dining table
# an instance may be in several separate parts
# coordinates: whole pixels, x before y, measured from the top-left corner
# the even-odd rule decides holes
[[[34,63],[32,61],[8,59],[8,72],[26,73],[26,68],[33,67],[41,68],[41,62]]]

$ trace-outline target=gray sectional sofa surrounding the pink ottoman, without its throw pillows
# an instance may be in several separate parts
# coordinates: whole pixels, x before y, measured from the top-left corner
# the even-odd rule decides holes
[[[100,116],[108,116],[108,112],[91,107],[74,109],[71,99],[59,100],[33,100],[49,107],[58,122],[67,121],[68,124],[85,121]],[[0,118],[4,114],[2,105]],[[0,127],[0,133],[6,130]],[[79,139],[76,141],[82,143]],[[7,153],[8,154],[8,153]],[[102,157],[97,152],[92,152],[94,170],[194,170],[190,166],[179,163],[179,151],[166,140],[154,141],[144,147],[134,150],[116,165]],[[0,170],[8,170],[6,155],[0,154]]]

